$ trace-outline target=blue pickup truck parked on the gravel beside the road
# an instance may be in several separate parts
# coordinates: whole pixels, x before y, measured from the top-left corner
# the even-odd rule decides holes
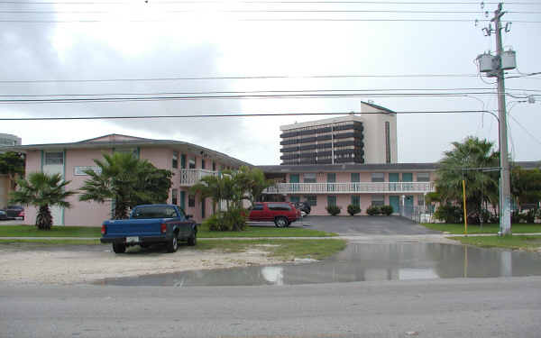
[[[129,219],[105,221],[102,225],[102,243],[113,243],[115,253],[123,253],[126,247],[141,245],[143,248],[155,243],[165,243],[167,251],[179,249],[179,241],[196,245],[197,224],[178,206],[135,206]]]

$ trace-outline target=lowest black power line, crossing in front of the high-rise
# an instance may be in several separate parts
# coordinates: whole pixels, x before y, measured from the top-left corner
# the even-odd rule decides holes
[[[442,110],[442,111],[402,111],[393,114],[473,114],[486,113],[484,110]],[[259,113],[259,114],[184,114],[184,115],[131,115],[131,116],[78,116],[78,117],[2,117],[0,121],[59,121],[59,120],[133,120],[133,119],[162,119],[162,118],[216,118],[216,117],[264,117],[264,116],[306,116],[306,115],[347,115],[352,112],[324,113]],[[387,114],[369,112],[362,114]]]

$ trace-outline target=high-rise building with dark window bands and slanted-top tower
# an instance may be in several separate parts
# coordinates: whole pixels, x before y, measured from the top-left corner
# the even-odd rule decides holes
[[[361,103],[360,114],[280,126],[282,165],[396,163],[397,116]]]

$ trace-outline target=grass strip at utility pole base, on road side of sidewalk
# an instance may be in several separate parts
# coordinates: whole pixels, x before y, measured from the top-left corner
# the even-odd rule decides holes
[[[537,250],[541,248],[541,236],[468,236],[451,237],[452,240],[463,244],[485,248],[508,248],[521,250]]]

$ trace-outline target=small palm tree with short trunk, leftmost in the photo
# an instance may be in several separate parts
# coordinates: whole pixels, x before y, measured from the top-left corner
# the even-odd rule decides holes
[[[62,181],[60,174],[33,172],[28,176],[28,180],[23,178],[17,180],[19,189],[11,194],[11,203],[38,207],[36,226],[41,230],[50,230],[52,226],[50,206],[71,206],[66,198],[74,195],[75,191],[65,189],[69,183],[70,181]]]

